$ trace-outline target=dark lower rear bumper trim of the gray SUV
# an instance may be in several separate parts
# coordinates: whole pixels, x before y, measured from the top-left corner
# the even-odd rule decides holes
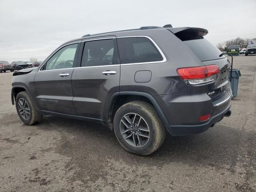
[[[206,123],[198,125],[170,125],[166,126],[166,129],[172,136],[182,136],[189,134],[198,134],[205,132],[208,128],[214,126],[217,122],[222,120],[225,114],[230,115],[231,102],[222,112],[212,116]]]

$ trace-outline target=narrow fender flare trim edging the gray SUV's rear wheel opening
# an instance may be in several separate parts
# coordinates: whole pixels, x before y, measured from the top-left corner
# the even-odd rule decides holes
[[[111,96],[110,101],[108,103],[107,120],[110,118],[110,111],[112,109],[112,105],[115,101],[115,98],[120,95],[137,95],[137,96],[144,96],[144,97],[148,98],[150,100],[150,102],[152,102],[152,104],[153,104],[154,108],[156,109],[156,112],[157,112],[158,116],[160,117],[160,119],[162,120],[163,124],[165,126],[169,125],[169,122],[166,119],[164,112],[162,111],[162,109],[160,108],[158,103],[156,102],[155,98],[146,92],[139,92],[139,91],[121,91],[121,92],[114,93]]]

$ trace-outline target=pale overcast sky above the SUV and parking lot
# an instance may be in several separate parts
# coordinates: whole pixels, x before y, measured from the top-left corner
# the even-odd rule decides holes
[[[165,24],[206,28],[215,45],[255,38],[256,0],[0,0],[0,60],[43,61],[85,34]]]

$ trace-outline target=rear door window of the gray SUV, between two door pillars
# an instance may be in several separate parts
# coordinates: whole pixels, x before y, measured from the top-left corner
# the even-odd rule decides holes
[[[114,39],[87,41],[81,67],[120,64]]]

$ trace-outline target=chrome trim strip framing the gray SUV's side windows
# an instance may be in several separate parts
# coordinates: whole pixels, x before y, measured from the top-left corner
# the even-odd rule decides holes
[[[76,43],[80,43],[80,42],[87,42],[87,41],[96,41],[96,40],[104,40],[104,39],[114,39],[114,38],[133,38],[133,37],[145,37],[148,38],[153,44],[154,46],[156,46],[156,48],[158,49],[158,51],[160,52],[163,60],[162,61],[153,61],[153,62],[141,62],[141,63],[127,63],[127,64],[116,64],[116,65],[100,65],[100,66],[87,66],[87,67],[72,67],[72,68],[63,68],[63,69],[52,69],[52,70],[41,70],[41,68],[46,64],[46,62],[61,48],[71,45],[71,44],[76,44]],[[164,63],[167,61],[164,53],[162,52],[162,50],[160,49],[160,47],[156,44],[156,42],[154,42],[154,40],[152,38],[150,38],[149,36],[123,36],[123,37],[109,37],[109,38],[98,38],[98,39],[88,39],[88,40],[82,40],[79,42],[73,42],[70,44],[65,44],[63,46],[61,46],[60,48],[58,48],[58,50],[56,50],[55,52],[53,52],[48,59],[42,64],[42,66],[40,67],[40,69],[38,70],[38,72],[45,72],[45,71],[54,71],[54,70],[67,70],[67,69],[76,69],[76,68],[94,68],[94,67],[109,67],[109,66],[120,66],[120,65],[139,65],[139,64],[151,64],[151,63]]]

